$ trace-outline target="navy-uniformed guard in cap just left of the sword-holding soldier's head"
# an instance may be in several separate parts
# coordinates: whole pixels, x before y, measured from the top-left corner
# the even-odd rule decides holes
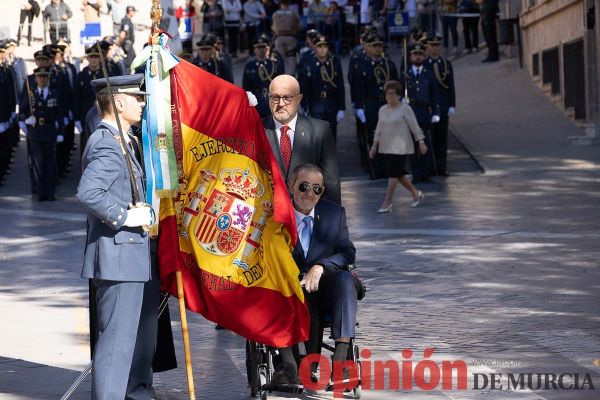
[[[104,78],[104,73],[100,66],[100,53],[98,53],[98,46],[89,47],[85,50],[86,58],[88,59],[88,65],[77,74],[77,82],[75,84],[76,96],[79,101],[76,102],[74,107],[75,115],[75,126],[80,132],[80,148],[83,154],[83,149],[88,140],[88,137],[94,132],[89,131],[85,128],[86,116],[90,109],[94,108],[94,102],[96,98],[96,91],[91,85],[92,80]]]

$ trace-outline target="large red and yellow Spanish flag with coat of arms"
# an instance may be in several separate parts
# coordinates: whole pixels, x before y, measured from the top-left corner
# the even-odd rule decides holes
[[[179,195],[160,207],[163,290],[245,338],[307,340],[309,317],[292,258],[297,233],[286,184],[246,93],[181,60],[171,70]]]

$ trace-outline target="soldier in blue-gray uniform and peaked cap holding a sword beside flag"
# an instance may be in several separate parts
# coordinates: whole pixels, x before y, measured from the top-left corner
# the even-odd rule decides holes
[[[89,137],[82,157],[77,200],[88,212],[88,240],[82,278],[97,290],[97,342],[92,374],[92,400],[154,398],[152,358],[156,344],[160,277],[156,252],[142,225],[152,222],[147,206],[133,202],[128,152],[139,193],[144,198],[142,166],[125,134],[121,143],[116,118],[124,132],[142,118],[143,74],[91,82],[103,118]],[[110,103],[114,95],[117,116]]]

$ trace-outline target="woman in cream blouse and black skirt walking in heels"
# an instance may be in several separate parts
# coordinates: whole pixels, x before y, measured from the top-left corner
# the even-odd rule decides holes
[[[412,194],[411,207],[418,206],[419,201],[425,199],[425,195],[410,183],[404,170],[407,155],[415,152],[411,134],[415,142],[419,143],[421,154],[427,152],[427,146],[425,146],[423,131],[416,122],[415,113],[408,104],[400,102],[402,91],[402,85],[395,80],[390,80],[383,86],[385,100],[388,103],[379,109],[379,121],[375,128],[373,146],[369,152],[371,158],[375,157],[377,152],[383,154],[388,174],[388,193],[377,210],[378,213],[391,212],[394,205],[392,197],[398,182]]]

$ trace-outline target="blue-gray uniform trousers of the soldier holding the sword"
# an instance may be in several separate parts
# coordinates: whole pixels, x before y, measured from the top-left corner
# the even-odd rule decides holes
[[[98,341],[92,369],[92,400],[148,400],[156,396],[152,388],[152,359],[158,332],[160,276],[157,255],[152,253],[151,259],[152,279],[148,282],[94,279]]]

